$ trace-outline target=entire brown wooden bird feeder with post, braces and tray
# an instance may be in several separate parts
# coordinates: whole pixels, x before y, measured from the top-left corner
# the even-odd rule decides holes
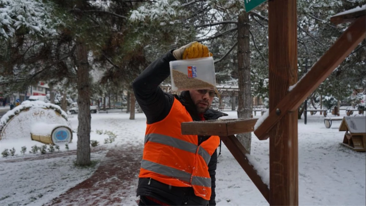
[[[182,123],[184,135],[219,135],[270,206],[298,206],[298,107],[366,36],[365,6],[361,11],[335,15],[330,21],[353,23],[298,81],[296,1],[269,1],[269,114],[261,117],[255,130],[257,119]],[[269,188],[234,135],[253,131],[259,140],[270,137]]]

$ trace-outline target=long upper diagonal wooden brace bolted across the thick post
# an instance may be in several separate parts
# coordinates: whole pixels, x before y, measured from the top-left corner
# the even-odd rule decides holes
[[[273,108],[270,107],[269,116],[254,131],[255,136],[259,140],[265,140],[269,137],[269,131],[277,124],[277,122],[287,114],[288,111],[297,111],[302,102],[315,91],[317,87],[329,76],[330,73],[356,48],[356,46],[365,39],[366,17],[357,19],[337,41],[325,52],[325,54],[311,67],[299,82],[292,88],[290,92]],[[274,39],[274,41],[277,41]],[[280,46],[279,44],[277,46]],[[281,53],[284,51],[279,51]],[[292,51],[294,52],[294,51]],[[273,59],[272,59],[273,60]],[[296,66],[297,67],[297,66]],[[281,72],[276,71],[272,80],[279,78]],[[271,81],[271,79],[269,80]],[[284,85],[281,85],[284,87]],[[286,85],[287,87],[287,85]],[[287,88],[286,88],[287,90]],[[272,99],[269,98],[273,103]],[[276,109],[280,110],[280,114],[276,114]]]

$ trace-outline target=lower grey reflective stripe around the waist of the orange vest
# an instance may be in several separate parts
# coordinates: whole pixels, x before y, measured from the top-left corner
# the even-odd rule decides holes
[[[191,182],[193,185],[199,185],[203,187],[211,187],[211,178],[206,177],[198,177],[198,176],[191,176],[190,173],[184,172],[179,169],[171,168],[165,165],[161,165],[155,162],[151,162],[148,160],[143,159],[141,161],[141,168],[159,173],[165,176],[173,177],[178,180]],[[192,178],[192,181],[191,181]]]

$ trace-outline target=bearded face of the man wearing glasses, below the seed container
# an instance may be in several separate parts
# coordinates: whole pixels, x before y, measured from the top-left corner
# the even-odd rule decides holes
[[[198,113],[205,113],[211,106],[213,98],[216,95],[214,88],[190,90],[191,99],[196,105]]]

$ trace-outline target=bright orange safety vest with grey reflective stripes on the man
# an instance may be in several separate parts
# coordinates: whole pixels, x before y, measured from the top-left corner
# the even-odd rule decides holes
[[[193,187],[196,196],[210,200],[208,163],[220,144],[220,137],[211,136],[198,146],[197,135],[181,132],[180,124],[192,121],[182,103],[174,99],[167,117],[147,124],[139,177],[175,187]]]

